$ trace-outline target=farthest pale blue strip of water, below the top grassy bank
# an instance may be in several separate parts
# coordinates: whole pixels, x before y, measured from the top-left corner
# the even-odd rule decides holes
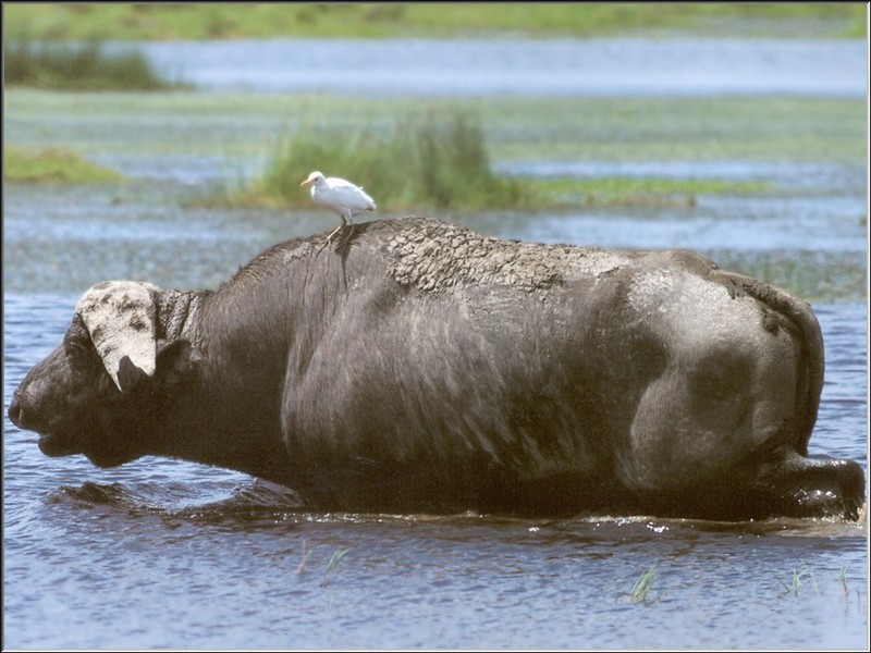
[[[861,40],[277,39],[142,47],[168,77],[220,91],[863,97],[868,88]]]

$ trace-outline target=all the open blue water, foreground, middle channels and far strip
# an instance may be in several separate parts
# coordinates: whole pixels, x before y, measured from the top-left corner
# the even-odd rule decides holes
[[[864,94],[864,50],[856,54],[855,44],[683,47],[683,57],[670,41],[647,49],[542,41],[518,50],[506,41],[160,44],[148,51],[213,91],[244,81],[360,94],[712,94],[763,85]],[[250,67],[253,57],[262,65]],[[605,60],[622,63],[605,75],[597,67]],[[704,75],[694,73],[701,61]],[[443,64],[454,70],[430,74]],[[311,75],[311,65],[323,74]],[[370,85],[365,75],[340,77],[343,69],[371,72]],[[142,181],[124,189],[4,187],[5,648],[867,650],[867,526],[317,514],[289,490],[226,470],[157,458],[99,470],[82,457],[42,456],[36,435],[14,428],[5,408],[29,367],[61,341],[84,288],[105,279],[216,287],[269,245],[334,226],[322,212],[184,208],[185,188],[220,176],[220,162],[168,158],[157,169],[154,160],[131,161],[139,168],[125,172]],[[569,167],[576,176],[772,178],[776,194],[700,197],[692,210],[437,217],[508,238],[689,247],[732,269],[760,264],[783,284],[815,284],[806,296],[824,298],[813,307],[826,379],[811,454],[859,460],[867,473],[864,170],[536,165],[541,175]],[[634,602],[651,568],[649,593]]]

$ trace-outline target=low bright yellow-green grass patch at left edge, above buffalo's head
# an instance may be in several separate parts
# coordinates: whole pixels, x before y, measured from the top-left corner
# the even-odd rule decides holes
[[[28,183],[102,184],[120,182],[121,173],[56,149],[3,150],[3,181]]]

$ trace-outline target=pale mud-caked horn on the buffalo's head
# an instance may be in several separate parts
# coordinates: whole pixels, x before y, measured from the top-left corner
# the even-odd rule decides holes
[[[131,390],[143,374],[155,373],[156,292],[149,283],[106,281],[89,288],[76,304],[76,313],[121,392]]]

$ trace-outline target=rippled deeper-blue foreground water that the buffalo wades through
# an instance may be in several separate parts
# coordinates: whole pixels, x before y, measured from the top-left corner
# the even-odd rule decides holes
[[[75,299],[4,297],[4,406]],[[812,453],[863,459],[864,307],[817,310],[829,369]],[[98,470],[44,457],[8,420],[4,431],[8,648],[867,642],[855,525],[309,514],[235,472],[155,458]],[[651,566],[652,590],[633,603]]]

